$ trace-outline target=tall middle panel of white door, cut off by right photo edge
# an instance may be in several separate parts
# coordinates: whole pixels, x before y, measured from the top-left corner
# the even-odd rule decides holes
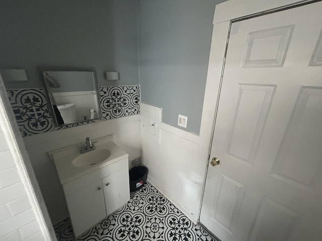
[[[321,173],[322,88],[302,87],[287,126],[272,175],[314,188]]]

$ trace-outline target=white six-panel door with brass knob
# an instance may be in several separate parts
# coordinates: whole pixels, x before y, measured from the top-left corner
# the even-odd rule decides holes
[[[321,29],[321,2],[232,23],[200,215],[222,241],[322,240]]]

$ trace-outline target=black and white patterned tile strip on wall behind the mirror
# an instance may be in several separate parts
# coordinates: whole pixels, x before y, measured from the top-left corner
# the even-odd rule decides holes
[[[23,137],[94,123],[89,121],[55,127],[43,88],[8,89],[10,103]],[[139,85],[99,86],[102,121],[139,114]]]

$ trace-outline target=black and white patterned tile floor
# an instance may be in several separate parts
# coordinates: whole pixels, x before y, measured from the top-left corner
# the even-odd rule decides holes
[[[72,241],[70,220],[54,226],[58,241]],[[130,201],[77,238],[77,241],[214,241],[175,205],[146,183]]]

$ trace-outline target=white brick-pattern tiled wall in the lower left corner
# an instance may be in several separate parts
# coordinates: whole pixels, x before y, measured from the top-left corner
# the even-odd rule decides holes
[[[9,145],[0,128],[0,240],[44,240]]]

